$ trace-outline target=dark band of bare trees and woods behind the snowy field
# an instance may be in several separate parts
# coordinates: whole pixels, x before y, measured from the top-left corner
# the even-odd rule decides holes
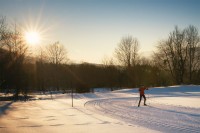
[[[139,41],[124,36],[112,58],[102,64],[70,63],[67,50],[54,42],[30,54],[20,27],[0,18],[0,91],[12,92],[17,99],[30,92],[91,88],[167,86],[200,83],[200,36],[195,26],[178,26],[161,40],[151,57],[139,53]]]

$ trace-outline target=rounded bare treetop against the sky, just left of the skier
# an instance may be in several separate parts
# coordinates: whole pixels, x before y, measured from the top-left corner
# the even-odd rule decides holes
[[[132,36],[123,37],[118,47],[115,49],[116,57],[119,63],[130,68],[137,60],[139,43]]]

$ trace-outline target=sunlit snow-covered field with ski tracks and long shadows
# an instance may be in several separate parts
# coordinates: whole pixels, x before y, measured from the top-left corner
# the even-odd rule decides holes
[[[200,86],[37,95],[29,102],[0,101],[0,133],[200,133]]]

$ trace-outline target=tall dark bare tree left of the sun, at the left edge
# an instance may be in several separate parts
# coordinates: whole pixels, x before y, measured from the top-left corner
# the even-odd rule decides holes
[[[4,68],[2,70],[3,80],[9,88],[13,88],[14,96],[18,99],[20,92],[25,91],[26,72],[24,71],[25,57],[28,47],[24,41],[20,27],[16,23],[14,28],[7,26],[6,22],[1,21],[1,48],[6,51],[4,54]],[[3,27],[3,28],[2,28]],[[2,30],[3,29],[3,30]],[[26,93],[24,93],[26,95]]]

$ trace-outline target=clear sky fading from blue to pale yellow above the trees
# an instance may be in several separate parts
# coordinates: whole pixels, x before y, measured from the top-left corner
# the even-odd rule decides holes
[[[200,29],[199,0],[0,0],[0,16],[41,34],[40,45],[59,41],[74,62],[113,57],[124,36],[150,56],[177,25]]]

